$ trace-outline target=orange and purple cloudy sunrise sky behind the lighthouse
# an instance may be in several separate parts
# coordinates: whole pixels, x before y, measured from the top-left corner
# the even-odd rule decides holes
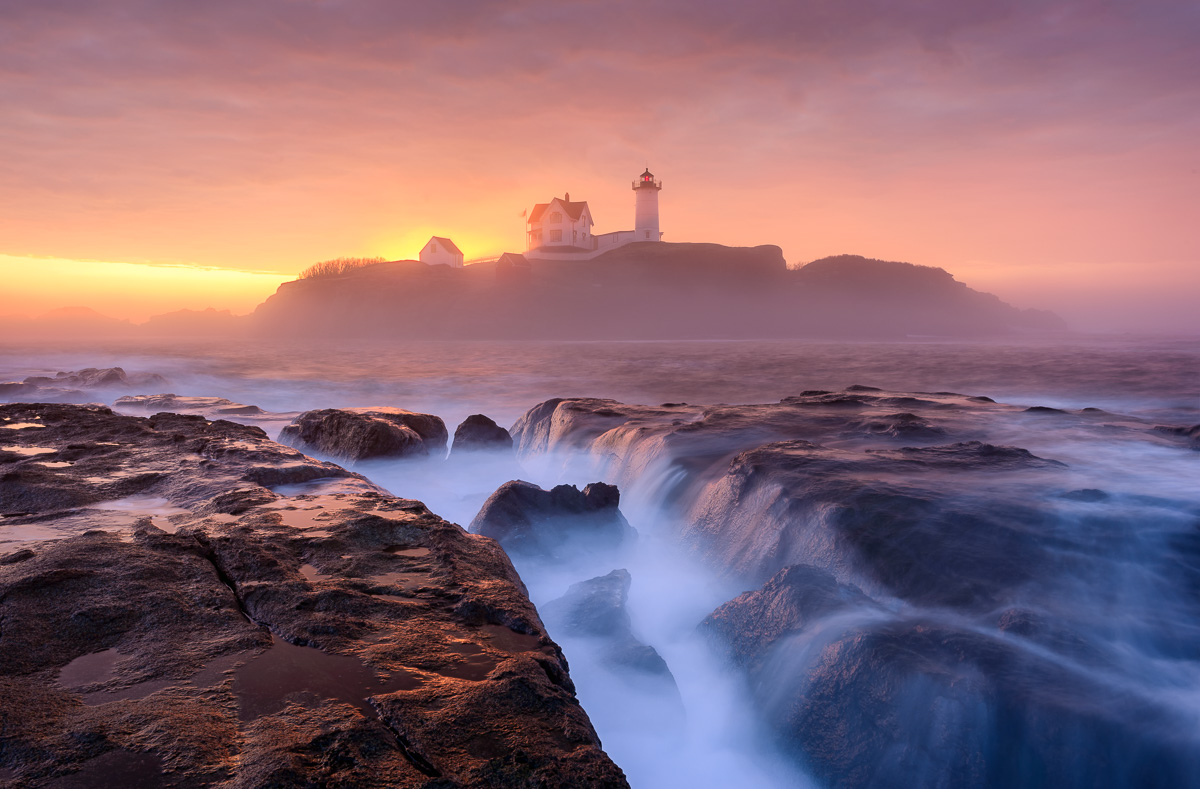
[[[248,312],[336,257],[666,241],[1200,331],[1194,0],[0,0],[0,314]]]

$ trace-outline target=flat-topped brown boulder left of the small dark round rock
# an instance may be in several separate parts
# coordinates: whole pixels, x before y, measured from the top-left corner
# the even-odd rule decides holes
[[[446,438],[439,417],[398,408],[305,411],[280,433],[282,444],[347,460],[436,456]]]

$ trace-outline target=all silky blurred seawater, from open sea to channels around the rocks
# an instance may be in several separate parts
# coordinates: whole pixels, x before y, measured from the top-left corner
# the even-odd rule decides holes
[[[167,390],[180,396],[220,396],[269,411],[392,405],[437,414],[451,430],[474,412],[509,426],[553,397],[766,403],[852,384],[954,391],[1018,405],[1094,406],[1150,424],[1200,422],[1200,341],[1186,337],[992,343],[0,344],[0,380],[110,366],[158,373],[168,379]],[[95,399],[112,403],[125,393],[160,392],[107,390],[97,391]],[[1177,566],[1193,561],[1190,543],[1180,541],[1192,538],[1200,511],[1200,453],[1182,442],[1168,445],[1141,435],[1032,424],[997,421],[988,433],[996,442],[1067,463],[1062,484],[1112,494],[1104,504],[1043,502],[1055,513],[1054,538],[1061,543],[1063,562],[1036,585],[1036,597],[1016,601],[1085,634],[1109,663],[1099,671],[1060,656],[1039,652],[1038,657],[1066,661],[1097,686],[1200,723],[1200,661],[1194,659],[1200,632],[1192,625],[1190,591],[1176,574]],[[602,476],[601,469],[571,474],[536,458],[526,458],[520,468],[511,458],[355,466],[396,495],[421,499],[463,525],[490,492],[512,476],[542,486],[583,484]],[[678,513],[662,508],[662,486],[648,475],[623,490],[622,508],[642,532],[635,549],[594,556],[584,566],[518,570],[532,600],[541,606],[570,583],[626,567],[634,578],[629,612],[635,634],[666,658],[686,719],[677,731],[659,725],[660,718],[670,717],[670,704],[629,689],[598,665],[588,644],[552,632],[571,662],[580,699],[634,787],[811,785],[770,746],[744,680],[715,664],[696,636],[696,624],[744,588],[695,565],[673,543]],[[996,501],[1006,495],[1016,494],[995,492]],[[884,602],[902,616],[977,627],[953,612]],[[844,630],[828,622],[806,638]],[[804,655],[799,649],[785,655],[798,665],[788,671],[803,673]],[[928,724],[919,717],[907,723],[917,731]]]

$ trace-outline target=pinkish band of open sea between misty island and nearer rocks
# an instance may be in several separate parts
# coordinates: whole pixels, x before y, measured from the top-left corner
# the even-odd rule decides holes
[[[806,389],[868,384],[959,391],[1009,403],[1123,414],[1200,412],[1195,337],[1028,342],[412,342],[114,345],[0,344],[0,378],[124,366],[166,375],[179,394],[266,410],[397,404],[486,412],[511,424],[552,397],[625,403],[767,403]],[[184,391],[186,390],[186,391]],[[438,409],[442,409],[440,411]]]

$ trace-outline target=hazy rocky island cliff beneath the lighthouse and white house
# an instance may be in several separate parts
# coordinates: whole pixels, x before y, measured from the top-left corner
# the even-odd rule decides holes
[[[857,257],[799,271],[779,247],[634,243],[588,261],[378,264],[280,287],[258,331],[462,339],[980,336],[1061,329],[941,269]]]

